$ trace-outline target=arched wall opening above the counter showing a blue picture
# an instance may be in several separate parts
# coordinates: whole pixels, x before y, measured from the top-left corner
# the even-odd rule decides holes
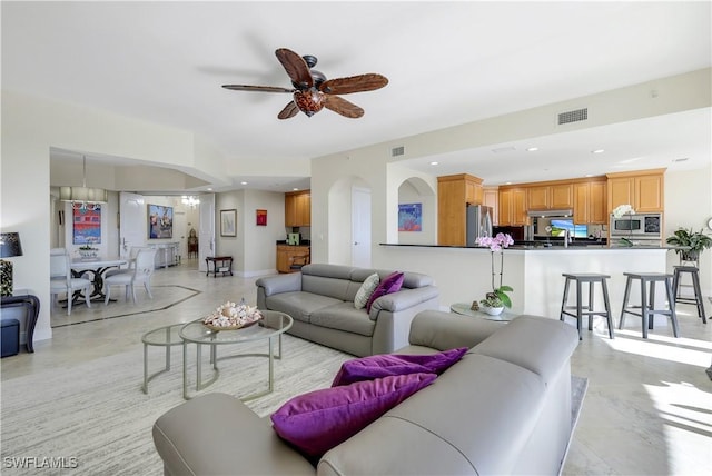
[[[418,212],[419,217],[416,217]],[[398,186],[398,244],[435,245],[436,242],[435,190],[422,178],[409,177]]]

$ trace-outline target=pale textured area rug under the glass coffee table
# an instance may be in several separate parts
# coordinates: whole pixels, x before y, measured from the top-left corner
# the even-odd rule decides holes
[[[195,346],[189,348],[189,379],[195,383]],[[220,350],[219,355],[227,355]],[[261,353],[267,345],[255,343],[240,350]],[[207,354],[204,349],[205,359]],[[275,361],[275,391],[247,403],[259,416],[271,414],[295,395],[328,387],[342,363],[353,358],[289,335],[284,336],[284,355]],[[140,389],[141,346],[67,371],[4,381],[2,475],[161,475],[151,426],[185,401],[181,356],[181,347],[175,347],[171,370],[149,383],[148,395]],[[164,363],[164,348],[149,347],[149,374]],[[227,359],[219,367],[219,379],[200,394],[224,391],[239,397],[267,388],[266,358]],[[206,360],[204,373],[209,371]],[[572,378],[572,433],[586,386],[586,379]]]

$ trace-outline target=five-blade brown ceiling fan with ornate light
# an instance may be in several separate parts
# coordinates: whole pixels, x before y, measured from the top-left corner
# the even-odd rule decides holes
[[[317,63],[316,57],[300,57],[286,48],[278,49],[275,54],[291,79],[294,88],[249,85],[222,85],[222,87],[236,91],[291,92],[294,100],[277,115],[279,119],[293,118],[299,111],[312,117],[323,108],[347,118],[359,118],[364,115],[364,110],[336,95],[373,91],[388,83],[385,76],[376,73],[326,79],[323,72],[312,69]]]

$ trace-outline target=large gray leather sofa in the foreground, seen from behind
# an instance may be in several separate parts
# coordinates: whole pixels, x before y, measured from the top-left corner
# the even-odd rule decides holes
[[[226,394],[182,404],[154,425],[166,475],[557,474],[572,430],[575,328],[523,316],[510,324],[419,313],[402,354],[474,346],[428,387],[349,439],[316,468]]]

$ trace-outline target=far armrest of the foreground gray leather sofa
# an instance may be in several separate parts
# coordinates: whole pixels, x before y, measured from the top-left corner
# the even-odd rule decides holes
[[[413,319],[408,341],[413,346],[438,350],[456,347],[472,348],[502,329],[504,325],[504,323],[442,310],[424,310]]]

